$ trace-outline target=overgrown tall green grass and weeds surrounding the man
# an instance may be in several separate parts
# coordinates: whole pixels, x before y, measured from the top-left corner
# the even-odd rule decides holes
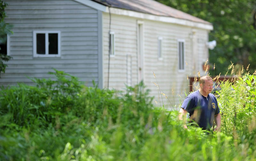
[[[223,82],[222,133],[207,133],[189,125],[185,130],[178,111],[155,107],[142,82],[119,93],[85,87],[61,71],[51,74],[55,81],[33,79],[36,87],[0,91],[0,160],[256,158],[253,75]]]

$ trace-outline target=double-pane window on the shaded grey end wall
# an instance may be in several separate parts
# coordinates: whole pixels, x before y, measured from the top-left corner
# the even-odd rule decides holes
[[[60,31],[33,32],[34,57],[60,57]]]

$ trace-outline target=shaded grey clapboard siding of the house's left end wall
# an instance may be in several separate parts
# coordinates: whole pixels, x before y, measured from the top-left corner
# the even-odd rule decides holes
[[[98,11],[73,0],[4,0],[6,22],[13,24],[10,55],[0,85],[33,83],[26,78],[47,78],[52,68],[77,76],[86,85],[98,82]],[[33,57],[33,30],[60,31],[61,57]]]

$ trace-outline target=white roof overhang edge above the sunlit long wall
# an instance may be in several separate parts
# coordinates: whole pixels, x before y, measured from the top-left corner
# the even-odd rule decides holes
[[[106,10],[104,12],[107,12],[107,13],[109,12],[107,6],[106,6]],[[140,19],[148,19],[148,20],[153,20],[153,21],[160,21],[160,22],[184,25],[184,26],[188,26],[188,27],[201,28],[201,29],[205,29],[205,30],[213,30],[213,26],[211,23],[205,24],[205,23],[200,23],[200,22],[189,21],[186,19],[177,19],[177,18],[166,17],[166,16],[156,16],[156,15],[152,15],[152,14],[124,10],[124,9],[113,8],[113,7],[110,7],[110,12],[113,14],[117,14],[117,15],[124,15],[124,16],[140,18]]]

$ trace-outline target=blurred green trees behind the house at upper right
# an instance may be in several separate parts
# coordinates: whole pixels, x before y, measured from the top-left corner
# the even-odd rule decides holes
[[[255,0],[157,0],[213,24],[209,41],[217,46],[209,51],[215,73],[226,73],[230,61],[250,71],[256,69]]]

